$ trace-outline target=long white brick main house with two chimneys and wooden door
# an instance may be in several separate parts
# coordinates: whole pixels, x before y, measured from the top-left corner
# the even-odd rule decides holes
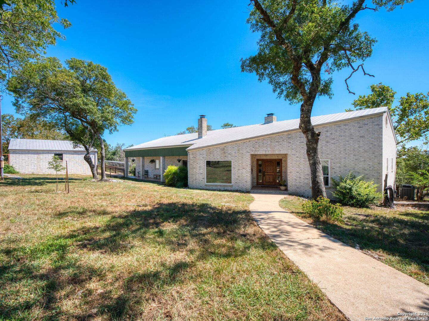
[[[315,116],[311,121],[321,132],[319,154],[329,197],[331,178],[350,171],[374,180],[380,191],[394,186],[396,136],[387,108]],[[132,146],[125,156],[136,161],[136,171],[148,170],[149,177],[185,161],[190,188],[248,191],[284,180],[289,193],[310,196],[305,138],[298,125],[299,119],[277,122],[267,114],[261,124],[207,131],[207,119],[201,116],[198,133]],[[149,163],[151,159],[156,163]]]

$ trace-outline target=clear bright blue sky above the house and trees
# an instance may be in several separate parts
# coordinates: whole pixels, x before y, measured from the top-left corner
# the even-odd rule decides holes
[[[106,134],[109,144],[139,144],[174,135],[196,125],[198,115],[219,128],[224,122],[250,125],[266,113],[278,120],[299,118],[299,105],[277,99],[267,83],[240,71],[240,58],[254,54],[258,35],[245,23],[248,0],[227,2],[220,9],[210,1],[83,1],[57,9],[72,27],[66,40],[48,49],[48,56],[92,60],[108,68],[138,112],[135,123]],[[356,20],[378,39],[367,72],[349,81],[350,70],[335,73],[333,99],[316,100],[313,115],[342,112],[369,85],[383,82],[399,95],[428,92],[429,1],[415,0],[393,12],[365,10]],[[13,113],[11,98],[2,112]]]

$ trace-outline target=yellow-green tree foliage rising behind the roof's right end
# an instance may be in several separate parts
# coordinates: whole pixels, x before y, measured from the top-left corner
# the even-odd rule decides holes
[[[420,139],[429,143],[429,92],[426,95],[407,92],[399,98],[399,104],[393,106],[396,92],[392,88],[378,83],[370,89],[369,95],[360,95],[353,101],[356,110],[388,107],[398,144]]]

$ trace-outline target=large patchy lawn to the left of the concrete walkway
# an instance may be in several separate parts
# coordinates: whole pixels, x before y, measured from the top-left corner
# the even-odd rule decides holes
[[[22,176],[0,183],[0,320],[345,320],[249,194]]]

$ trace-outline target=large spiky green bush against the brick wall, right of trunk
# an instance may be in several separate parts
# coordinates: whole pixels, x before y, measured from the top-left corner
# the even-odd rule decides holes
[[[356,177],[352,172],[344,177],[340,175],[338,181],[332,178],[332,185],[335,188],[332,195],[342,205],[368,207],[383,198],[383,194],[377,192],[378,185],[374,181],[365,181],[363,175]]]

